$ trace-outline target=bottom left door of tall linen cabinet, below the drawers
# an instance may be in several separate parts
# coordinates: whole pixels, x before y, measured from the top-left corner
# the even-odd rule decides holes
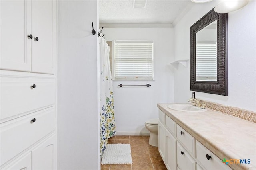
[[[20,156],[16,161],[2,168],[2,170],[31,170],[31,152]]]

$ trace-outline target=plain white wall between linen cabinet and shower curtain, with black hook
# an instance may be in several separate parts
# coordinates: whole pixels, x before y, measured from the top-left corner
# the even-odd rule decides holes
[[[58,169],[100,169],[97,10],[95,0],[58,1]]]

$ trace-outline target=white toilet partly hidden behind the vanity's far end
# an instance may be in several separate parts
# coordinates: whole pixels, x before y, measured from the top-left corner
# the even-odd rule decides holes
[[[150,131],[148,144],[158,147],[158,119],[145,121],[145,127]]]

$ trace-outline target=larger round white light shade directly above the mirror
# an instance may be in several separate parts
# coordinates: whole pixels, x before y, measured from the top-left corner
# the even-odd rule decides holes
[[[223,0],[215,6],[214,11],[218,13],[228,13],[238,10],[248,4],[249,0]]]

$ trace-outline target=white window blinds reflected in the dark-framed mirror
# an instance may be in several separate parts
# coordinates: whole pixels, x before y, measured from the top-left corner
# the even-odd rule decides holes
[[[216,43],[196,43],[196,81],[217,81]]]

